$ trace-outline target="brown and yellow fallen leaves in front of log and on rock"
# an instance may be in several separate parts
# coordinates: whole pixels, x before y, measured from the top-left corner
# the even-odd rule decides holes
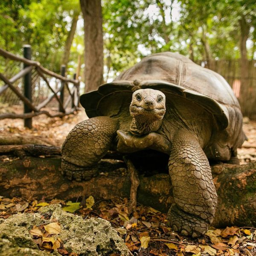
[[[166,214],[152,207],[138,205],[132,215],[128,213],[128,199],[113,197],[112,200],[94,201],[93,196],[85,198],[86,204],[61,199],[27,201],[23,198],[0,197],[0,218],[6,219],[18,212],[37,212],[49,204],[61,204],[66,211],[83,218],[103,218],[111,222],[119,236],[137,256],[254,256],[256,255],[256,228],[226,227],[210,229],[198,239],[180,236],[167,227]],[[11,205],[10,205],[11,204]],[[17,206],[18,205],[18,206]],[[6,207],[7,206],[7,207]],[[23,207],[22,207],[23,206]],[[22,209],[23,208],[23,209]],[[61,233],[58,222],[47,223],[30,230],[33,241],[41,250],[65,256],[69,253],[57,237]],[[115,254],[114,256],[119,256]]]

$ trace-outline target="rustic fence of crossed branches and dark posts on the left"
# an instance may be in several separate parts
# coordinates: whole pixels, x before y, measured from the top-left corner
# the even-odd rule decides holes
[[[24,105],[23,113],[1,113],[0,119],[22,118],[25,127],[32,128],[32,117],[65,116],[79,109],[79,81],[54,73],[31,60],[31,47],[24,46],[24,58],[0,48],[0,102]],[[53,83],[54,81],[54,83]],[[57,105],[56,105],[57,103]],[[54,111],[49,106],[55,107]],[[48,108],[46,108],[48,107]],[[52,110],[52,108],[51,108]]]

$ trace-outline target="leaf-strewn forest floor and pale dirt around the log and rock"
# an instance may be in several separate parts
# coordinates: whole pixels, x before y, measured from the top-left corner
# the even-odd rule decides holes
[[[23,128],[21,119],[0,120],[1,136],[15,134],[40,137],[48,144],[61,146],[69,131],[86,119],[84,111],[76,116],[50,119],[44,115],[33,118],[33,129]],[[256,121],[245,120],[244,132],[248,137],[242,148],[238,149],[241,164],[256,160]],[[81,203],[79,204],[79,201]],[[128,214],[128,199],[113,198],[109,201],[94,202],[93,197],[70,203],[61,198],[46,201],[27,201],[23,198],[3,198],[0,196],[0,218],[20,212],[36,212],[48,204],[71,206],[71,212],[84,218],[100,217],[111,222],[133,255],[139,256],[254,256],[256,255],[256,227],[213,227],[198,239],[180,236],[166,226],[166,214],[151,207],[138,205],[132,216]],[[73,207],[73,209],[72,209]],[[121,228],[122,227],[122,228]],[[69,255],[69,254],[63,254]],[[73,256],[75,254],[72,254]],[[113,254],[112,256],[118,256]]]

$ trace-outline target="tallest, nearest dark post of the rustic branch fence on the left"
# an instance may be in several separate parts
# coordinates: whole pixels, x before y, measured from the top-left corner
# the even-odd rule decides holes
[[[32,49],[31,45],[25,44],[23,45],[24,49],[24,58],[31,60]],[[24,68],[29,65],[24,63]],[[30,71],[24,76],[24,96],[32,102],[32,80],[31,80],[32,72]],[[24,103],[24,113],[30,113],[32,110]],[[24,127],[32,129],[32,118],[24,119]]]

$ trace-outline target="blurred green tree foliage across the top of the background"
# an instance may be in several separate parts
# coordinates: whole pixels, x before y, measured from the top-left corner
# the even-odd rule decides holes
[[[104,79],[111,79],[143,56],[177,51],[194,61],[256,58],[253,0],[102,0]],[[79,15],[79,16],[78,16]],[[76,18],[78,16],[78,18]],[[67,47],[72,23],[76,32]],[[84,29],[79,0],[0,1],[0,47],[33,58],[59,72],[65,51],[75,73],[84,63]],[[245,51],[242,50],[246,44]],[[70,48],[70,49],[69,49]],[[79,57],[80,56],[80,57]]]

